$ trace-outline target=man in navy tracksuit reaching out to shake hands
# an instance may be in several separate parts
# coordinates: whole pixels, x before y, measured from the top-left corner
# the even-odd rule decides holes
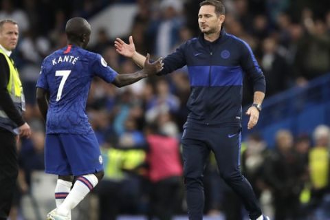
[[[250,46],[227,34],[224,21],[225,8],[221,1],[201,2],[198,14],[201,35],[166,56],[164,69],[159,72],[159,75],[168,74],[188,66],[190,113],[182,137],[188,216],[191,220],[203,218],[203,168],[213,151],[221,177],[241,197],[250,219],[269,219],[263,216],[250,183],[239,170],[243,76],[248,76],[254,87],[253,104],[246,112],[250,115],[248,129],[259,119],[265,77]],[[146,58],[135,51],[131,36],[129,44],[116,39],[115,47],[123,56],[144,66]]]

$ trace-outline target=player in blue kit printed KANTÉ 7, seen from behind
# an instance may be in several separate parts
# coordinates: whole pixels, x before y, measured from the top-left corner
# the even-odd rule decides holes
[[[67,47],[45,58],[36,83],[36,98],[46,122],[45,172],[58,175],[56,209],[47,214],[49,220],[71,219],[71,210],[104,175],[98,141],[85,112],[93,77],[122,87],[156,74],[163,65],[161,58],[149,63],[147,55],[140,72],[117,74],[100,54],[84,49],[91,34],[85,19],[70,19],[65,32]]]

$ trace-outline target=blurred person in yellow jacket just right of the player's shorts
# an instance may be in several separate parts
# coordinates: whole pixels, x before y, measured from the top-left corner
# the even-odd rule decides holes
[[[141,205],[140,177],[132,175],[144,162],[146,153],[122,149],[115,142],[102,145],[104,179],[94,189],[99,198],[99,220],[115,220],[120,213],[134,214]]]

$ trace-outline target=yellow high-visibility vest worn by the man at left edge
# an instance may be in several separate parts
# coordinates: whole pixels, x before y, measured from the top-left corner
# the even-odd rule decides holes
[[[19,110],[19,113],[25,111],[25,98],[23,94],[23,87],[21,80],[19,79],[19,72],[17,68],[14,66],[14,61],[0,49],[0,53],[5,56],[5,59],[9,66],[9,80],[7,85],[8,93],[10,94],[10,98],[14,102],[15,107]],[[0,73],[5,74],[5,73]],[[8,131],[12,131],[13,133],[17,133],[15,129],[17,129],[17,124],[13,122],[8,115],[3,111],[3,108],[0,106],[0,127],[7,129]]]

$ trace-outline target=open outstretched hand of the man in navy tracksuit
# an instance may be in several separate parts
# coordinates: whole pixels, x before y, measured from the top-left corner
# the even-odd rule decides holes
[[[126,56],[127,58],[131,58],[136,65],[143,68],[144,62],[146,61],[146,57],[142,54],[139,54],[135,50],[135,45],[133,42],[133,36],[129,36],[129,44],[122,41],[122,39],[115,39],[115,50],[121,54],[122,56]]]

